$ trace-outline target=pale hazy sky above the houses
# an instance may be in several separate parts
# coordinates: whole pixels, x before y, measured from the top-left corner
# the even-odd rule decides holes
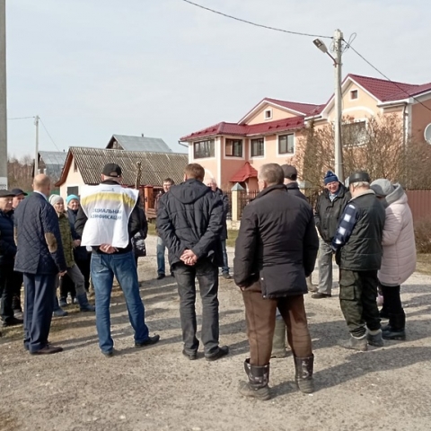
[[[431,82],[431,2],[194,1],[287,31],[331,38],[340,29],[346,40],[356,33],[352,46],[391,80]],[[34,155],[36,115],[40,150],[103,148],[114,134],[144,134],[185,152],[181,136],[237,122],[264,97],[324,103],[333,92],[330,57],[314,38],[183,0],[6,3],[11,156]],[[351,49],[342,70],[382,77]]]

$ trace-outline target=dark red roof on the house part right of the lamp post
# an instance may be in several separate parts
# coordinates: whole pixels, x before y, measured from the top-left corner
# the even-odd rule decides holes
[[[431,91],[431,83],[421,85],[397,83],[386,79],[353,74],[347,75],[346,79],[348,77],[364,87],[367,92],[371,92],[379,101],[400,101],[409,98],[409,96]]]

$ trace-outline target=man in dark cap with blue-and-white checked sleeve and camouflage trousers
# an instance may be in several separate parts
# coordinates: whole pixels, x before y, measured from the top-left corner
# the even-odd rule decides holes
[[[362,351],[383,346],[376,297],[385,213],[370,182],[367,172],[348,178],[352,198],[331,243],[339,264],[339,303],[350,331],[350,339],[339,345]]]

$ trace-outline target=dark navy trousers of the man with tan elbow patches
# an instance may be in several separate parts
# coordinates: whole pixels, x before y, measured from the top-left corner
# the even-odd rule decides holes
[[[24,347],[31,352],[48,345],[56,277],[24,273]]]

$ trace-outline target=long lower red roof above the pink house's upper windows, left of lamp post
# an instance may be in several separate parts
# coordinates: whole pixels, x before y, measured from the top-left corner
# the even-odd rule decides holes
[[[290,119],[277,119],[266,123],[253,124],[251,126],[240,125],[235,123],[225,123],[224,121],[209,128],[204,128],[188,136],[182,136],[180,141],[195,140],[199,137],[210,137],[218,135],[231,136],[262,136],[286,132],[303,128],[303,117],[292,117]]]

